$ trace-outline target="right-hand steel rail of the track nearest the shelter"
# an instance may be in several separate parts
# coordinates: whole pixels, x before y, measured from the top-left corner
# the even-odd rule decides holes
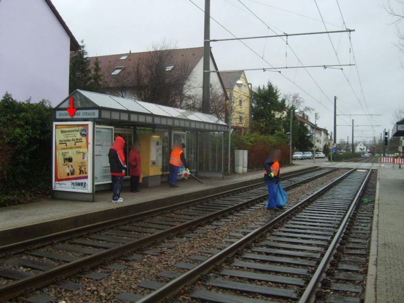
[[[315,169],[315,170],[317,170],[317,169]],[[327,175],[336,170],[337,170],[337,168],[334,170],[326,171],[319,175],[312,176],[312,177],[302,180],[300,182],[296,182],[294,184],[287,185],[287,186],[285,186],[285,189],[295,187],[296,185],[299,185],[299,184],[308,182],[310,180],[313,180],[315,178]],[[311,170],[311,171],[313,171],[313,170]],[[298,173],[296,175],[301,175],[301,174],[303,174],[303,173]],[[200,223],[210,221],[214,218],[222,216],[222,215],[229,213],[233,210],[236,210],[238,208],[242,208],[248,204],[254,203],[255,201],[262,200],[266,197],[267,197],[267,194],[263,194],[258,197],[255,197],[255,198],[248,199],[246,201],[243,201],[240,204],[225,208],[223,210],[219,210],[217,212],[208,214],[206,216],[196,218],[195,220],[192,220],[189,222],[185,222],[185,223],[173,226],[166,230],[158,231],[154,234],[147,235],[144,238],[136,239],[132,242],[128,242],[128,243],[125,243],[125,244],[117,246],[117,247],[109,248],[104,251],[98,252],[97,254],[93,254],[91,256],[84,257],[79,260],[58,266],[49,271],[45,271],[45,272],[33,275],[31,277],[24,278],[24,279],[0,286],[0,301],[5,301],[8,299],[14,298],[14,297],[18,296],[20,293],[22,293],[23,291],[25,291],[26,289],[35,289],[35,288],[47,285],[59,278],[64,278],[64,277],[74,275],[77,272],[79,272],[80,270],[82,270],[83,268],[95,267],[99,264],[102,264],[106,260],[117,259],[119,257],[124,256],[125,254],[127,254],[130,251],[138,249],[141,246],[144,246],[144,245],[152,243],[156,240],[165,238],[168,235],[175,234],[181,230],[189,229],[190,227],[196,226]]]

